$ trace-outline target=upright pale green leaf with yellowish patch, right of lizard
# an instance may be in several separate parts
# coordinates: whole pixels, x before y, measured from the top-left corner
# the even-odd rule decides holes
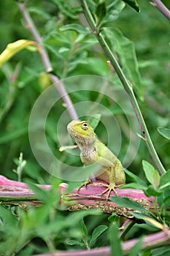
[[[143,169],[145,176],[147,178],[147,181],[150,182],[154,187],[158,187],[160,183],[160,176],[158,173],[158,170],[155,170],[155,168],[150,165],[147,161],[142,161]]]

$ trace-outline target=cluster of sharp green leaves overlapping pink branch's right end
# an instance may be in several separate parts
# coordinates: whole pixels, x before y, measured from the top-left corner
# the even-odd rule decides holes
[[[137,219],[143,219],[145,222],[158,227],[159,229],[163,230],[163,225],[169,226],[169,173],[168,170],[163,176],[159,176],[158,170],[155,170],[155,167],[150,165],[147,161],[142,161],[144,173],[147,178],[147,181],[150,182],[151,185],[140,184],[140,179],[136,176],[130,175],[130,177],[136,181],[134,183],[129,183],[124,185],[123,187],[131,187],[135,189],[142,189],[144,194],[147,197],[150,197],[152,200],[153,206],[155,208],[155,214],[152,214],[150,210],[144,208],[141,204],[128,199],[127,197],[111,197],[111,200],[119,206],[132,209],[131,214],[134,215]],[[126,173],[129,174],[127,170]],[[152,199],[154,197],[154,199]],[[160,209],[158,210],[158,205]],[[151,217],[152,216],[152,217]],[[167,218],[167,221],[165,220]],[[157,221],[159,220],[159,222]]]

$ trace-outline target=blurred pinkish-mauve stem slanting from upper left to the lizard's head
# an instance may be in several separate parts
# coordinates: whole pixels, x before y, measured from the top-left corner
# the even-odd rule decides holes
[[[58,93],[63,98],[63,102],[65,102],[65,104],[66,104],[66,108],[69,112],[70,117],[72,119],[77,119],[76,110],[74,108],[74,105],[72,104],[72,100],[70,99],[69,94],[67,94],[66,89],[63,86],[63,83],[61,83],[61,81],[58,79],[58,77],[56,75],[53,75],[52,73],[50,73],[53,71],[53,67],[50,63],[50,59],[47,54],[47,51],[45,50],[45,48],[42,45],[42,38],[39,34],[39,31],[36,29],[34,21],[31,19],[31,16],[27,12],[25,4],[19,2],[18,7],[20,9],[20,12],[23,15],[25,22],[26,22],[27,28],[29,29],[32,36],[34,37],[35,42],[39,46],[39,53],[42,58],[42,63],[44,64],[45,71],[48,73],[48,75],[50,76],[50,79],[53,81],[56,89],[58,90]]]

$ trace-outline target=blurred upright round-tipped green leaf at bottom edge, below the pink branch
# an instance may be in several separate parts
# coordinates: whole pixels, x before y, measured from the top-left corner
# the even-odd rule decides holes
[[[111,245],[111,255],[123,256],[123,251],[120,244],[120,238],[118,237],[118,229],[116,223],[112,223],[109,227],[109,242]]]

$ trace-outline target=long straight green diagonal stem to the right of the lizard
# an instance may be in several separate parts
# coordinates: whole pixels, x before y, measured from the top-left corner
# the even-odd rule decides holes
[[[128,97],[131,101],[131,105],[134,108],[136,118],[139,121],[139,125],[142,130],[142,138],[146,142],[147,148],[150,151],[150,155],[151,155],[153,161],[155,162],[155,165],[157,166],[160,175],[162,175],[163,173],[166,173],[166,170],[164,169],[164,167],[161,163],[161,160],[159,159],[158,154],[155,151],[155,148],[152,144],[150,134],[147,130],[147,126],[144,122],[144,118],[142,116],[141,110],[136,101],[136,97],[134,95],[132,86],[130,83],[128,83],[127,78],[125,78],[125,75],[123,74],[123,70],[120,68],[120,65],[118,64],[117,60],[115,59],[115,56],[113,55],[112,50],[109,48],[109,45],[107,44],[106,40],[104,39],[104,37],[105,37],[104,32],[101,33],[100,31],[98,31],[98,29],[96,27],[95,20],[93,19],[93,15],[90,12],[87,2],[85,0],[81,0],[81,3],[82,3],[82,9],[84,10],[84,13],[85,13],[85,17],[88,20],[88,23],[89,23],[92,31],[96,35],[98,42],[101,45],[101,48],[104,50],[104,53],[106,54],[107,58],[111,62],[112,67],[114,67],[115,72],[117,73],[118,77],[120,78],[120,81],[123,84],[123,87],[124,87],[126,93],[128,94]]]

